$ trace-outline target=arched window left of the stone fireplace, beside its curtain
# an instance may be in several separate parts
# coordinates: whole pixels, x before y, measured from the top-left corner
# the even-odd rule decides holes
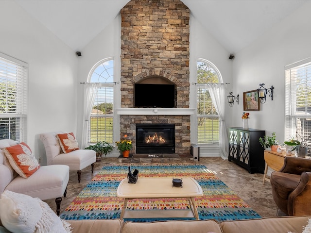
[[[113,143],[114,61],[109,58],[98,62],[91,70],[88,82],[98,86],[88,123],[88,144]]]

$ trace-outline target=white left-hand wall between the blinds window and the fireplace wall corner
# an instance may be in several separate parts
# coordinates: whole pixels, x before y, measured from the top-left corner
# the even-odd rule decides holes
[[[75,52],[14,1],[0,1],[0,28],[0,52],[29,65],[27,144],[45,157],[39,133],[76,131]]]

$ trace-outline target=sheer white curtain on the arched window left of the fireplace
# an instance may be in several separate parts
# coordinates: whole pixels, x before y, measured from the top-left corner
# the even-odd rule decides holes
[[[88,122],[93,109],[95,96],[101,83],[86,83],[84,84],[84,110],[83,110],[83,130],[82,130],[82,145],[81,148],[87,147]]]

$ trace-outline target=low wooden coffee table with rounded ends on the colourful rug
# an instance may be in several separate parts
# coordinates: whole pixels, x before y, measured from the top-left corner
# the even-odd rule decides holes
[[[174,177],[178,178],[178,177]],[[124,216],[127,201],[137,198],[188,198],[193,215],[199,219],[194,197],[203,196],[201,186],[190,177],[182,178],[182,188],[172,187],[172,178],[138,178],[137,183],[123,179],[117,190],[117,197],[124,198],[121,218]]]

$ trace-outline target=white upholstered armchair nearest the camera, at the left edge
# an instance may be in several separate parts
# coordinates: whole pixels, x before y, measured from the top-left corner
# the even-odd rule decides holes
[[[17,145],[11,139],[1,139],[0,149]],[[60,213],[62,196],[66,197],[69,182],[69,166],[40,166],[28,179],[19,176],[10,165],[4,151],[0,150],[0,194],[5,190],[26,194],[33,198],[55,198],[56,214]]]

